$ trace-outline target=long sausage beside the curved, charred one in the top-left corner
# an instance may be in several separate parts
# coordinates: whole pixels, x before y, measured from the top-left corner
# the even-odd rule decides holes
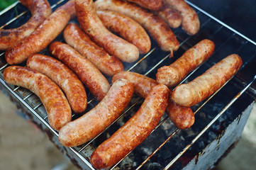
[[[74,16],[74,12],[74,1],[68,1],[63,6],[57,8],[27,38],[24,38],[21,42],[6,50],[6,62],[8,64],[20,64],[30,55],[43,50],[62,32],[69,22],[70,17]]]

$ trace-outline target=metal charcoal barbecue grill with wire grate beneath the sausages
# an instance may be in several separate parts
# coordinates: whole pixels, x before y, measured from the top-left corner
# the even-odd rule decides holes
[[[49,2],[54,11],[66,1],[49,0]],[[158,68],[171,64],[186,50],[205,38],[215,42],[216,50],[209,60],[191,72],[182,83],[191,81],[213,64],[233,53],[242,57],[243,66],[238,74],[210,98],[191,107],[196,118],[191,128],[178,129],[164,114],[150,136],[111,169],[211,169],[240,138],[256,98],[256,84],[254,83],[256,42],[222,23],[199,6],[192,4],[191,1],[187,3],[193,6],[199,15],[201,22],[199,33],[189,36],[180,27],[173,29],[180,47],[171,59],[169,59],[169,54],[160,50],[156,42],[151,39],[150,52],[140,55],[137,62],[124,63],[125,70],[138,72],[155,79]],[[0,26],[1,28],[16,28],[26,23],[28,18],[30,18],[30,12],[17,2],[1,11]],[[77,20],[74,19],[71,22],[77,23]],[[64,42],[62,35],[55,40]],[[47,49],[40,53],[50,55]],[[100,135],[78,147],[63,147],[58,142],[58,132],[53,130],[48,123],[48,116],[40,99],[28,89],[5,83],[3,72],[9,65],[6,64],[3,51],[0,52],[0,56],[1,89],[16,103],[18,108],[29,116],[31,121],[48,135],[55,146],[81,169],[94,169],[89,163],[91,153],[138,111],[143,103],[143,98],[134,95],[123,114]],[[21,65],[25,66],[25,63]],[[107,79],[111,81],[111,77]],[[98,102],[88,89],[86,91],[89,101],[87,111],[89,111]],[[72,119],[79,116],[73,114]]]

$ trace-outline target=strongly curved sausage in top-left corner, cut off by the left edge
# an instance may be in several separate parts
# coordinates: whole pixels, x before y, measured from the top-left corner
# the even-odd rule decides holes
[[[16,45],[23,38],[28,37],[35,28],[38,28],[43,21],[52,13],[52,8],[47,0],[19,0],[31,12],[31,18],[27,23],[18,28],[0,30],[0,50],[7,50]]]

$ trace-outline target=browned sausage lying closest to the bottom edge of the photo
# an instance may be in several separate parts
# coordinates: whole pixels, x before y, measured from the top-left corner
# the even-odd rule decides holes
[[[165,113],[168,95],[167,86],[154,86],[137,113],[91,154],[91,164],[96,169],[112,166],[143,142]]]

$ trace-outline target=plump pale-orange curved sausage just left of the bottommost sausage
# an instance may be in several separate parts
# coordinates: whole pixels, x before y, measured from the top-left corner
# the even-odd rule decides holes
[[[121,115],[132,96],[133,84],[126,79],[118,79],[97,106],[60,130],[60,143],[74,147],[96,137]]]

